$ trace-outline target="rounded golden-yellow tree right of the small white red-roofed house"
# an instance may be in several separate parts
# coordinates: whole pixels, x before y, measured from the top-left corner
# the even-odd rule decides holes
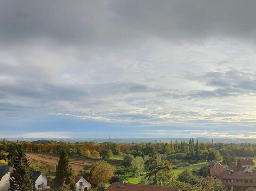
[[[110,178],[114,176],[114,168],[106,161],[99,161],[91,167],[90,182],[93,184],[108,183]]]

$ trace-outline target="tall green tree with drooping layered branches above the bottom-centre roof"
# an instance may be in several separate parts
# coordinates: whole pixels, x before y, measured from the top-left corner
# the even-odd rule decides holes
[[[146,178],[152,178],[152,184],[156,185],[160,181],[165,181],[170,178],[171,166],[167,162],[161,162],[161,157],[153,148],[149,153],[149,159],[145,162],[148,168]]]

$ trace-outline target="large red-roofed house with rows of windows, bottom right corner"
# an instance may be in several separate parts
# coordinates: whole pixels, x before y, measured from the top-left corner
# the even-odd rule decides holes
[[[219,175],[227,191],[256,191],[256,173],[224,171]]]

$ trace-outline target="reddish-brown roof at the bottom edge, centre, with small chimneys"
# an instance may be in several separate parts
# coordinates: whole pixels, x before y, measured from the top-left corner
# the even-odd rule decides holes
[[[159,186],[132,184],[132,183],[113,183],[105,191],[180,191],[176,187],[163,186],[159,183]]]

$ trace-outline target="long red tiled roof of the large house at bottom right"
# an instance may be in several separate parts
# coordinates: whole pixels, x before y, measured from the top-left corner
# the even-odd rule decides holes
[[[224,179],[237,179],[237,180],[256,180],[256,173],[251,175],[250,172],[233,172],[229,175],[229,171],[223,171],[219,175],[219,179],[223,181]]]

